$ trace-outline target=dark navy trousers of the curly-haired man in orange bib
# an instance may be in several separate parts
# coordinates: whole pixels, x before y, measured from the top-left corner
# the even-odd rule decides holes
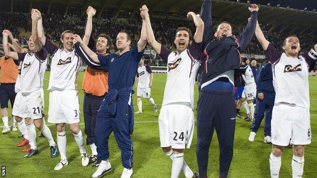
[[[87,135],[86,144],[94,143],[94,130],[96,128],[96,117],[104,97],[91,96],[84,92],[84,121],[85,133]]]

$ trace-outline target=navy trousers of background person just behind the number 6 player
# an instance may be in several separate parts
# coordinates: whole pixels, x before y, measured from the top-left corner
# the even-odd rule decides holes
[[[257,97],[257,108],[255,113],[255,119],[250,126],[252,132],[257,132],[260,128],[262,119],[264,118],[264,136],[271,136],[271,119],[272,119],[272,110],[275,100],[275,92],[263,92],[264,98],[260,100]]]

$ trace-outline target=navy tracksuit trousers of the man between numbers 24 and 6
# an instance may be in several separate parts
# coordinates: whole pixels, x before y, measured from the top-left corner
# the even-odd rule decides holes
[[[233,156],[236,105],[232,92],[201,91],[197,106],[197,162],[199,177],[207,176],[209,146],[214,129],[219,142],[219,174],[227,177]]]

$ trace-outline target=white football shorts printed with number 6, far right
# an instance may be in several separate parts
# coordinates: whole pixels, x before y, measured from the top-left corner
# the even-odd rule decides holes
[[[272,111],[272,144],[288,146],[311,143],[309,109],[295,104],[276,103]]]

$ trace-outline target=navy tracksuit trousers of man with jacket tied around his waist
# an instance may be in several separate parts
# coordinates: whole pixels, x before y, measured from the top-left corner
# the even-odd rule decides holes
[[[131,105],[123,99],[117,99],[116,114],[109,115],[106,112],[107,102],[103,102],[97,114],[95,144],[97,146],[98,158],[107,160],[109,158],[108,139],[113,131],[118,147],[121,150],[121,161],[123,167],[133,167],[133,143],[131,134],[133,132],[133,102]]]

